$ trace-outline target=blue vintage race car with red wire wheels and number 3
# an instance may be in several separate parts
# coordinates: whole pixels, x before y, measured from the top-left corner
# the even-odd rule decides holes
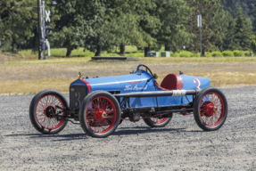
[[[81,78],[70,84],[70,104],[55,90],[34,96],[29,106],[32,125],[42,134],[57,134],[68,121],[80,124],[93,137],[112,134],[123,119],[140,119],[152,127],[166,126],[173,113],[194,114],[198,126],[214,131],[227,118],[225,95],[209,78],[168,74],[158,85],[157,75],[141,64],[129,75]]]

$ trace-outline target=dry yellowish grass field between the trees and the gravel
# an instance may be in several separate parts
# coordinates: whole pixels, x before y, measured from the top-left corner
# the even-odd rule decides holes
[[[46,88],[67,93],[70,83],[78,78],[79,71],[83,77],[118,76],[129,74],[141,63],[159,75],[159,83],[167,74],[182,70],[186,75],[209,77],[213,86],[256,85],[256,58],[253,57],[136,57],[137,61],[95,62],[90,61],[90,57],[38,61],[0,54],[0,59],[4,58],[9,60],[0,63],[0,94],[37,94]]]

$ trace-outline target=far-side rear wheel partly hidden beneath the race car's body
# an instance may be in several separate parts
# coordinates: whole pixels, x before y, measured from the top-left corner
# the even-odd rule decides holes
[[[172,118],[172,113],[169,113],[169,118],[144,118],[145,124],[151,127],[163,127],[169,124]]]

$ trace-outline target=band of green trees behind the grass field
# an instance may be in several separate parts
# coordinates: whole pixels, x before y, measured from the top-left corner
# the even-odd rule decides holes
[[[66,56],[83,47],[101,52],[126,45],[157,51],[200,52],[197,15],[202,15],[202,54],[212,51],[256,51],[256,0],[45,0],[54,28],[46,38]],[[37,52],[37,0],[0,2],[0,51]]]

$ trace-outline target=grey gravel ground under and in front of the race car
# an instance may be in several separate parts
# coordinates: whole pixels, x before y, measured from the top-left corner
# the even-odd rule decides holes
[[[218,131],[174,115],[162,128],[124,121],[104,139],[71,123],[39,134],[29,120],[33,94],[0,96],[0,170],[256,170],[256,86],[222,91],[228,116]]]

